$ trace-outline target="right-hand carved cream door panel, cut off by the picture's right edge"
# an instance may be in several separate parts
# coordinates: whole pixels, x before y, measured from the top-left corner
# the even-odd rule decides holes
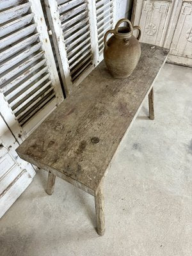
[[[183,1],[168,61],[192,67],[192,1]]]

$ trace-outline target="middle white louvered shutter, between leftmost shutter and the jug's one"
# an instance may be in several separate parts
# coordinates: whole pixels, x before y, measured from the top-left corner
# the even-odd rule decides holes
[[[85,0],[45,0],[66,94],[93,68],[90,13]]]

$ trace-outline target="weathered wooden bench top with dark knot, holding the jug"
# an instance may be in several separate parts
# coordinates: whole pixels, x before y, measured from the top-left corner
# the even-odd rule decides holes
[[[20,145],[19,156],[95,195],[167,54],[141,44],[138,66],[126,79],[111,77],[102,61]]]

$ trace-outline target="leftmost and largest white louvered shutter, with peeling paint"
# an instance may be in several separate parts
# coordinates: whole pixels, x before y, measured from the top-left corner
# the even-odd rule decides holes
[[[40,1],[0,3],[0,97],[16,138],[63,100]]]

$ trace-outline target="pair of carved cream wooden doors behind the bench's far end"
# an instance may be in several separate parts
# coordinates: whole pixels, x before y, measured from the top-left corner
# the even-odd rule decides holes
[[[170,49],[168,61],[192,67],[192,1],[135,0],[132,22],[141,42]]]

